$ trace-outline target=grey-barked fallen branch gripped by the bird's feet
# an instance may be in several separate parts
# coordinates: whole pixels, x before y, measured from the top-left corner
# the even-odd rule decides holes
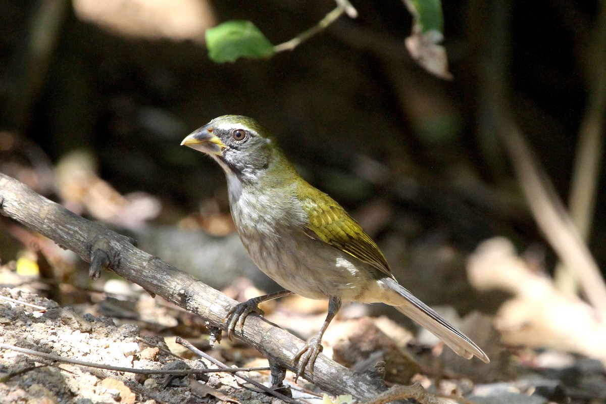
[[[236,304],[205,283],[139,250],[127,237],[68,211],[2,173],[0,213],[74,251],[86,262],[98,265],[108,258],[108,268],[119,276],[199,314],[213,326],[224,328],[222,319]],[[284,329],[251,315],[244,331],[236,328],[235,336],[284,368],[296,371],[291,359],[304,342]],[[324,355],[318,356],[314,373],[306,370],[304,377],[332,394],[351,394],[359,400],[372,399],[387,389],[378,377],[354,373]]]

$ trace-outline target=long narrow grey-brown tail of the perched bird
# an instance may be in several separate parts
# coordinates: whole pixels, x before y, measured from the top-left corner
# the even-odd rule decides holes
[[[395,291],[395,293],[405,299],[402,300],[402,305],[394,304],[394,300],[398,301],[401,299],[390,299],[390,304],[395,306],[396,310],[415,320],[415,322],[424,326],[424,328],[427,328],[462,357],[471,359],[471,357],[477,356],[485,363],[490,362],[488,356],[486,356],[478,345],[465,336],[465,334],[461,333],[461,331],[454,328],[453,325],[448,323],[429,306],[413,296],[412,293],[402,287],[396,280],[385,278],[383,282],[390,290]]]

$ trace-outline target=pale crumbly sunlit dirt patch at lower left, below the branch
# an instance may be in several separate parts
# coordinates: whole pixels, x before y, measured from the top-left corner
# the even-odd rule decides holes
[[[81,315],[72,309],[59,307],[52,300],[18,289],[4,289],[0,293],[20,302],[0,302],[2,344],[125,368],[195,369],[214,366],[204,360],[190,360],[173,354],[164,338],[141,336],[135,325],[116,326],[110,317]],[[3,349],[0,358],[2,403],[149,404],[235,400],[270,403],[277,400],[251,389],[239,388],[235,377],[225,373],[201,376],[204,385],[196,386],[199,383],[188,376],[176,377],[169,382],[168,376],[164,375],[144,376],[87,368],[40,359],[10,349]],[[258,372],[249,376],[265,379]],[[168,385],[162,387],[167,382]]]

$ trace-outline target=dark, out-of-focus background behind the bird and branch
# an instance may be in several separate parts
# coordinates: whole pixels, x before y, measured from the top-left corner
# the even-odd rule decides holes
[[[461,315],[494,314],[512,292],[471,288],[466,262],[480,243],[504,236],[541,276],[557,262],[499,141],[505,108],[565,204],[579,134],[593,130],[580,166],[596,162],[595,210],[582,233],[604,267],[604,2],[445,1],[450,81],[408,55],[401,0],[352,4],[358,18],[341,16],[293,51],[216,64],[207,28],[247,19],[279,44],[335,3],[1,2],[0,171],[215,287],[244,276],[271,291],[233,233],[220,168],[179,146],[216,116],[251,116],[359,220],[405,287]],[[52,277],[86,282],[12,222],[0,233],[9,272],[24,257],[41,268],[48,259]]]

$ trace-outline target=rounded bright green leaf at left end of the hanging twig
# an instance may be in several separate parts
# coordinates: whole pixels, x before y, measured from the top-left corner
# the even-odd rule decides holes
[[[275,53],[271,42],[250,21],[224,22],[206,30],[205,37],[208,57],[217,63],[267,58]]]

